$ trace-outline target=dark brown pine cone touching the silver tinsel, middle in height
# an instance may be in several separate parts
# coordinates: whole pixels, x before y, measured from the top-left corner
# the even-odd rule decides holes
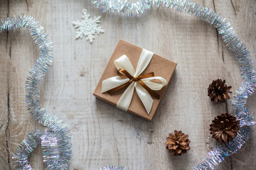
[[[235,116],[222,113],[215,117],[213,123],[210,124],[210,134],[218,142],[229,142],[238,134],[238,125],[239,120],[236,120]]]

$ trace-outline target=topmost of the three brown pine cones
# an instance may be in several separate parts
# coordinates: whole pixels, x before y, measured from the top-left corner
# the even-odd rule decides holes
[[[231,87],[232,86],[227,86],[225,84],[225,80],[213,80],[213,82],[208,87],[208,96],[210,97],[210,100],[214,101],[215,103],[218,103],[218,101],[224,103],[225,99],[230,99],[228,93],[232,94],[230,91]]]

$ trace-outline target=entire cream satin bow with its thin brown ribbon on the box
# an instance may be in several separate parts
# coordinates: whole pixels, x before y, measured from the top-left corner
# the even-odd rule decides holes
[[[153,104],[153,98],[151,98],[151,95],[159,98],[159,94],[156,94],[155,91],[161,90],[166,85],[166,79],[163,77],[154,77],[153,72],[140,75],[148,66],[153,55],[153,52],[143,49],[139,57],[136,72],[134,72],[132,63],[126,55],[122,55],[117,60],[114,60],[114,65],[118,70],[117,74],[119,76],[103,80],[102,93],[108,92],[112,94],[114,91],[122,89],[129,84],[127,89],[119,98],[117,108],[127,111],[132,101],[134,89],[136,89],[140,100],[146,108],[146,113],[149,115]],[[152,82],[151,80],[153,79],[158,79],[161,83]]]

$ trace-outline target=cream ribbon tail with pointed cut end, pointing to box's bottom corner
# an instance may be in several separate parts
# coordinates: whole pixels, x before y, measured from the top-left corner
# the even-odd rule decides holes
[[[135,82],[135,89],[146,109],[146,113],[149,115],[153,105],[153,98],[151,98],[149,92],[146,91],[146,89],[144,89],[144,87],[137,82]]]

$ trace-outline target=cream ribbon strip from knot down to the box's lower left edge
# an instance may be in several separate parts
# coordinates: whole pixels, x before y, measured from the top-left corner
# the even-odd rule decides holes
[[[132,96],[134,94],[134,82],[132,82],[127,89],[124,91],[122,96],[119,98],[119,101],[117,102],[117,108],[128,111],[128,108],[132,101]]]

